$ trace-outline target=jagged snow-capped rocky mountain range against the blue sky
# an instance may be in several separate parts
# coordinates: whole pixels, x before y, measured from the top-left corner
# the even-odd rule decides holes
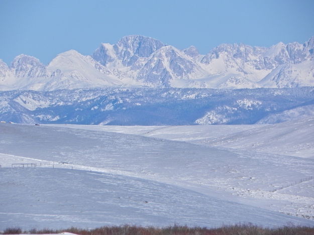
[[[47,66],[28,55],[0,60],[0,90],[91,87],[282,88],[314,86],[314,37],[270,48],[222,44],[206,55],[131,35],[92,55],[70,50]]]

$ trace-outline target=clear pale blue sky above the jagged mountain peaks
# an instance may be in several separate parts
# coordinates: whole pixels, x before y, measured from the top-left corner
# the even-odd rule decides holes
[[[222,43],[269,47],[314,36],[314,0],[0,0],[0,58],[48,64],[74,49],[139,34],[206,54]]]

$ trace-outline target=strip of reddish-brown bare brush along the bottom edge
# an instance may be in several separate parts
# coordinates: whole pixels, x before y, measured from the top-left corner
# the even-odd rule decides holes
[[[219,228],[169,226],[169,227],[142,227],[135,225],[103,226],[94,229],[81,229],[71,227],[68,229],[41,229],[33,228],[22,231],[19,227],[7,228],[2,234],[19,233],[61,233],[71,232],[80,235],[312,235],[314,227],[306,226],[283,226],[279,228],[263,228],[256,225],[232,225]]]

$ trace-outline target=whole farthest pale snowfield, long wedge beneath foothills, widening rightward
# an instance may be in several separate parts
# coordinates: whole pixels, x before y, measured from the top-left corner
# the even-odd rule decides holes
[[[64,125],[52,125],[64,127]],[[314,159],[314,118],[276,125],[88,126],[68,128],[136,134],[197,145]]]

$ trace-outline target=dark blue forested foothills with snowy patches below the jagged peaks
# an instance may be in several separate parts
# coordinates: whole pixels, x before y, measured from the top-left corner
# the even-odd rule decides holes
[[[312,116],[314,89],[107,88],[0,92],[0,121],[92,125],[270,124]]]

